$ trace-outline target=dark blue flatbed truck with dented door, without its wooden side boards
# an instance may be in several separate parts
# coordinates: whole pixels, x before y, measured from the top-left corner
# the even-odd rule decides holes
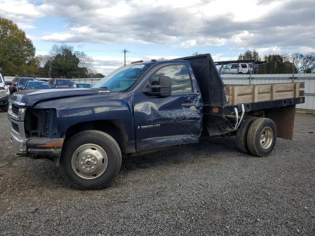
[[[201,135],[235,134],[242,151],[266,156],[277,136],[292,138],[304,97],[263,99],[255,89],[261,101],[231,104],[210,54],[137,61],[91,89],[13,93],[11,141],[24,156],[53,160],[79,189],[108,186],[124,156],[198,143]]]

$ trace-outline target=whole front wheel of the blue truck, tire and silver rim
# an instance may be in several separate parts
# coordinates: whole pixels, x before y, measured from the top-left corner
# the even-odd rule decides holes
[[[121,164],[122,154],[115,139],[98,130],[87,130],[66,142],[60,168],[75,188],[101,189],[117,176]]]

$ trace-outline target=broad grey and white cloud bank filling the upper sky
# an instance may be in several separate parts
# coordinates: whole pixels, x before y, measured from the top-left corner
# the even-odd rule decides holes
[[[230,46],[261,52],[314,49],[314,0],[2,0],[1,15],[22,29],[45,16],[63,31],[39,36],[60,43]]]

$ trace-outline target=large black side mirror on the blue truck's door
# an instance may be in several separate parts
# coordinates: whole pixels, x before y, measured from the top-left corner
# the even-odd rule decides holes
[[[168,76],[160,76],[157,85],[147,85],[142,89],[143,93],[154,96],[167,97],[171,95],[171,78]]]

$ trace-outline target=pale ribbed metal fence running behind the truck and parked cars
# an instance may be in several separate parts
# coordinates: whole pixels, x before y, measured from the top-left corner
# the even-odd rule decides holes
[[[313,74],[255,74],[255,75],[221,75],[224,84],[275,84],[275,83],[305,83],[305,103],[297,105],[302,112],[315,114],[315,73]],[[12,81],[14,77],[4,76],[4,80]],[[48,78],[43,78],[48,79]],[[76,82],[95,84],[99,78],[74,79]]]

